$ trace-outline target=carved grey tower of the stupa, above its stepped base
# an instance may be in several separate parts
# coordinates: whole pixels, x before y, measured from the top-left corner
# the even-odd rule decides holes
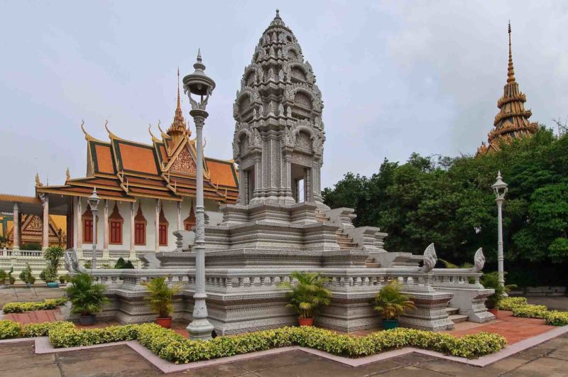
[[[277,11],[244,70],[233,107],[240,204],[325,207],[320,195],[322,108],[312,66]]]

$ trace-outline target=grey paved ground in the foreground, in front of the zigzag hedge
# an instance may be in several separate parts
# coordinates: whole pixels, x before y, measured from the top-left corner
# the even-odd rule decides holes
[[[3,376],[164,376],[129,346],[36,355],[33,342],[0,344]],[[567,376],[568,334],[507,359],[478,368],[432,356],[408,354],[360,367],[350,367],[303,351],[231,364],[210,366],[168,376]]]

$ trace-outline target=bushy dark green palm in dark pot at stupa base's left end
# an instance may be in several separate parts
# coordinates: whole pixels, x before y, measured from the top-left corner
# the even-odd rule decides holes
[[[77,273],[70,283],[65,291],[71,302],[71,312],[79,315],[80,324],[94,324],[94,313],[100,312],[109,302],[104,295],[104,285],[94,283],[93,277],[88,273]]]

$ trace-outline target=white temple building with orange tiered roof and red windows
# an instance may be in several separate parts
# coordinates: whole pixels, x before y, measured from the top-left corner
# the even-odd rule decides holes
[[[43,215],[38,241],[42,248],[52,245],[50,215],[67,216],[65,231],[67,247],[80,255],[91,251],[93,226],[97,251],[103,259],[114,256],[136,258],[136,255],[168,251],[175,248],[173,231],[190,230],[195,225],[195,193],[197,163],[203,164],[204,204],[206,219],[215,224],[222,221],[221,204],[235,203],[239,196],[239,181],[233,160],[204,157],[197,161],[195,139],[182,115],[178,71],[178,106],[173,122],[160,137],[152,134],[151,144],[136,143],[109,133],[109,141],[94,138],[81,125],[87,141],[87,172],[84,177],[71,177],[63,185],[43,185],[35,177],[37,197],[10,200],[0,197],[0,210],[13,209],[11,232],[13,249],[19,249],[26,229],[26,217],[21,213]],[[93,189],[101,198],[97,218],[87,203]],[[19,199],[18,199],[19,198]],[[8,209],[10,207],[10,209]],[[43,223],[50,224],[46,228]],[[55,230],[57,231],[57,230]]]

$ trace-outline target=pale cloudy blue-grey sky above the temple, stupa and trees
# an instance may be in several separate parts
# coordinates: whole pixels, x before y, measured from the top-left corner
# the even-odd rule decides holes
[[[82,120],[96,138],[108,120],[151,143],[197,48],[217,83],[205,153],[232,158],[236,90],[277,8],[322,91],[322,187],[385,158],[474,154],[506,84],[509,19],[531,121],[568,116],[566,1],[0,0],[0,192],[34,195],[35,173],[60,185],[67,167],[83,177]]]

